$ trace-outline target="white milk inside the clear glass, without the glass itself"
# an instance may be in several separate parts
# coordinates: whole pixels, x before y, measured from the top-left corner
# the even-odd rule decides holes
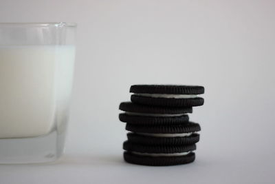
[[[0,139],[41,136],[66,119],[74,53],[72,45],[0,46]]]

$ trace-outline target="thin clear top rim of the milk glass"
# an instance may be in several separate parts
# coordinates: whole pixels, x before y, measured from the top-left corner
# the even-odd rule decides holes
[[[74,22],[0,22],[0,26],[30,26],[30,27],[76,27]]]

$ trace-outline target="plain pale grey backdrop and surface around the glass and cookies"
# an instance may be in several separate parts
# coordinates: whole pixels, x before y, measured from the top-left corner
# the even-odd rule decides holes
[[[0,0],[0,21],[78,23],[65,155],[0,165],[1,184],[275,182],[275,1]],[[118,105],[137,83],[206,88],[195,163],[124,163]]]

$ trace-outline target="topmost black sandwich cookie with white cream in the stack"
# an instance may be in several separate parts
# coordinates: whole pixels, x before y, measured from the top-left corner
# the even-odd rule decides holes
[[[131,101],[144,105],[193,107],[203,105],[204,88],[197,85],[132,85]]]

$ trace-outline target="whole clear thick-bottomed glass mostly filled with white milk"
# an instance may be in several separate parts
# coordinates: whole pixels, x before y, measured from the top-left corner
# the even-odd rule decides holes
[[[0,23],[0,163],[63,154],[75,23]]]

